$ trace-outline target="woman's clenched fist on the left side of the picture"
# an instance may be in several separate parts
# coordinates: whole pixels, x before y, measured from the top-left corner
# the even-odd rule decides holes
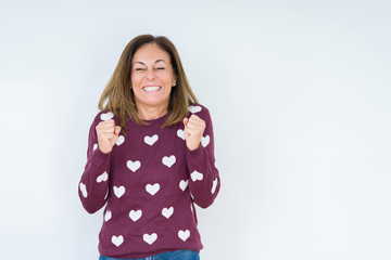
[[[113,119],[101,121],[96,127],[98,135],[98,147],[103,154],[109,154],[118,139],[121,127],[115,126]]]

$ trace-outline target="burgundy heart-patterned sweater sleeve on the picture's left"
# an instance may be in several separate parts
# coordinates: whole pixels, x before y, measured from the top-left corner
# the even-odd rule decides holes
[[[109,192],[111,153],[103,154],[98,147],[96,126],[99,121],[98,115],[89,131],[87,162],[78,184],[83,207],[89,213],[94,213],[104,206]]]

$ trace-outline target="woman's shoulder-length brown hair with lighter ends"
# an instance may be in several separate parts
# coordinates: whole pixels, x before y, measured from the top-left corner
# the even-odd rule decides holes
[[[156,43],[163,51],[168,53],[176,77],[176,86],[172,88],[168,102],[169,116],[162,125],[162,128],[181,121],[188,115],[189,105],[199,103],[190,88],[178,52],[173,42],[164,36],[137,36],[123,51],[118,64],[103,90],[98,104],[99,109],[110,110],[119,119],[122,129],[124,129],[129,119],[138,125],[148,125],[138,116],[130,78],[133,56],[140,47],[148,43]]]

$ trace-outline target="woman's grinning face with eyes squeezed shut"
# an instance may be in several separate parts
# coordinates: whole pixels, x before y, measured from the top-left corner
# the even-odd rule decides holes
[[[130,78],[138,107],[168,107],[176,78],[168,53],[157,44],[147,43],[136,51]]]

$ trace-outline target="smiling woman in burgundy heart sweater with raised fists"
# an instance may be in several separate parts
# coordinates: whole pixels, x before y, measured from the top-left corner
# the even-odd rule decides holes
[[[100,259],[199,259],[193,203],[220,182],[209,110],[174,44],[142,35],[125,48],[99,101],[79,182],[84,208],[102,208]]]

